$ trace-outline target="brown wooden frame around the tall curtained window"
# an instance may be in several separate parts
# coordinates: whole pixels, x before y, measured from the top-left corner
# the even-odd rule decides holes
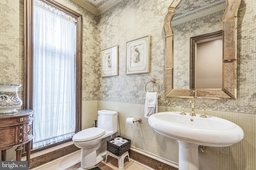
[[[55,2],[54,0],[41,0],[65,12],[76,19],[76,131],[81,131],[82,113],[82,15],[74,10]],[[33,106],[33,0],[24,0],[24,97],[23,109],[32,109]],[[71,141],[65,140],[66,141]],[[63,143],[63,141],[59,142]],[[57,143],[58,144],[58,143]],[[56,145],[53,144],[53,145]],[[48,145],[52,146],[52,145]],[[46,147],[48,147],[46,146]],[[46,148],[43,147],[43,148]]]

